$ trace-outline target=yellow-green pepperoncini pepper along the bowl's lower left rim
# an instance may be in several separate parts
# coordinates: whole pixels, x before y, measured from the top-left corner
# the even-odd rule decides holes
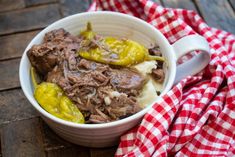
[[[67,121],[85,122],[82,113],[58,85],[49,82],[37,84],[33,68],[31,68],[31,77],[35,86],[34,97],[47,112]]]

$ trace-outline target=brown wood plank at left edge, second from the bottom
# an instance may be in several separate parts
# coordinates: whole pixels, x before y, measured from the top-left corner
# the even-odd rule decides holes
[[[38,116],[21,89],[0,92],[0,125]]]

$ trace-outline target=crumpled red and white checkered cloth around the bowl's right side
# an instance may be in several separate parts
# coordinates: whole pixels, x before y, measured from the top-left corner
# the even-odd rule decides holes
[[[194,11],[150,0],[97,0],[89,9],[95,10],[139,17],[170,43],[198,33],[212,53],[202,75],[174,86],[121,137],[116,156],[235,156],[235,36],[209,27]]]

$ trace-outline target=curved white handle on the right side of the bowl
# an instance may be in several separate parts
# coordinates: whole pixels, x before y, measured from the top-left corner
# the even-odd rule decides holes
[[[209,44],[206,39],[200,35],[185,36],[176,41],[172,46],[175,51],[176,62],[180,57],[191,51],[201,51],[199,54],[193,56],[190,60],[177,65],[174,84],[178,83],[180,80],[189,75],[194,75],[200,72],[210,61],[211,54]]]

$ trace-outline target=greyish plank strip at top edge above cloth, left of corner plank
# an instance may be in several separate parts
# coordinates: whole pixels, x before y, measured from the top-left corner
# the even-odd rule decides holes
[[[181,8],[197,11],[192,0],[163,0],[162,3],[168,8]]]

